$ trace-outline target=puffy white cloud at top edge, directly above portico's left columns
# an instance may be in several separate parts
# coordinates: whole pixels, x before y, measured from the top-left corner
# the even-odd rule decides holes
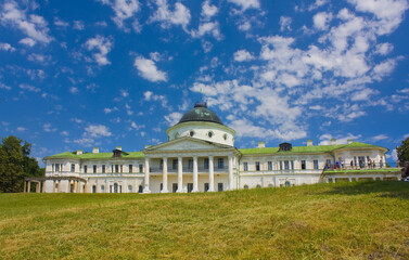
[[[168,28],[171,25],[181,25],[183,29],[190,23],[190,11],[180,2],[175,3],[174,11],[169,10],[167,0],[156,0],[157,10],[151,17],[152,22],[161,22],[163,28]]]

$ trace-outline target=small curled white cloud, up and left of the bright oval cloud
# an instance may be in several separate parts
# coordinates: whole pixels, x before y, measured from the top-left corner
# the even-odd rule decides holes
[[[106,57],[113,47],[113,40],[110,37],[97,36],[95,38],[90,38],[85,46],[88,51],[98,51],[93,54],[93,58],[98,65],[104,66],[111,64]]]

